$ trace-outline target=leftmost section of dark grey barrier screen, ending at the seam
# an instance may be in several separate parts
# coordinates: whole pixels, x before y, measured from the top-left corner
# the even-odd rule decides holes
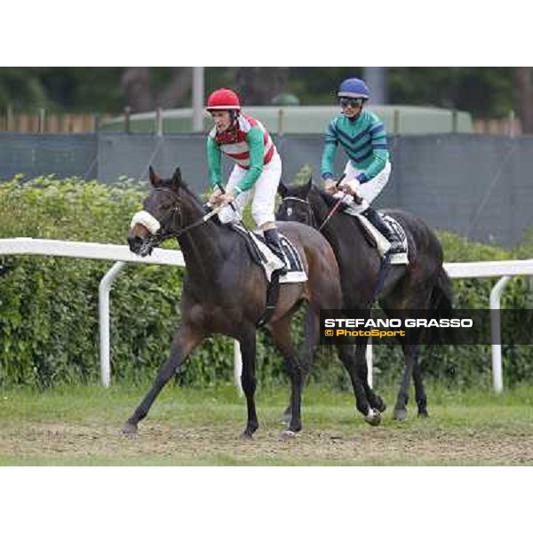
[[[98,142],[92,134],[0,133],[0,179],[98,176]]]

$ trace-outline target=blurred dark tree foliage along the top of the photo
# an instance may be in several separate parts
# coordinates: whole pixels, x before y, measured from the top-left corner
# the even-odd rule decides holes
[[[31,111],[120,113],[130,106],[183,107],[191,101],[191,68],[0,68],[0,107]],[[335,101],[347,76],[364,76],[362,67],[212,67],[205,70],[206,92],[229,86],[248,105],[270,104],[290,91],[303,105]],[[533,102],[530,68],[388,68],[390,102],[454,107],[476,117],[501,117],[513,107],[526,116]],[[530,112],[529,112],[530,113]]]

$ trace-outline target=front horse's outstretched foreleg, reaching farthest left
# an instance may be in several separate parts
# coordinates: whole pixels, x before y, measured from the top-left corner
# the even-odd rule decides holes
[[[139,421],[147,416],[148,410],[150,410],[152,403],[154,403],[163,386],[166,385],[176,370],[178,370],[179,365],[185,361],[187,355],[193,351],[202,339],[203,334],[199,331],[192,330],[184,325],[179,327],[171,344],[170,358],[161,366],[155,377],[154,385],[144,400],[140,402],[139,407],[128,418],[128,421],[123,426],[123,433],[134,434],[137,432]]]

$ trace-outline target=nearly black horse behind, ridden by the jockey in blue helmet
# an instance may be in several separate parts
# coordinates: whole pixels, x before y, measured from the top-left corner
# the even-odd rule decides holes
[[[337,200],[312,184],[278,189],[282,204],[278,220],[298,220],[312,227],[321,227]],[[386,276],[378,302],[387,313],[398,309],[434,309],[447,311],[451,307],[451,284],[442,267],[442,247],[424,220],[405,211],[386,210],[405,230],[409,243],[409,265],[392,265]],[[338,259],[344,309],[369,309],[376,296],[380,259],[378,251],[363,235],[359,221],[336,211],[321,229]],[[370,312],[370,311],[369,311]],[[410,338],[410,342],[413,338]],[[358,340],[355,352],[362,379],[366,377],[366,338]],[[405,368],[394,407],[394,418],[407,418],[410,376],[413,376],[418,416],[426,417],[426,393],[418,363],[418,346],[402,343]],[[381,410],[368,383],[364,384],[372,407]],[[378,397],[377,397],[378,398]]]

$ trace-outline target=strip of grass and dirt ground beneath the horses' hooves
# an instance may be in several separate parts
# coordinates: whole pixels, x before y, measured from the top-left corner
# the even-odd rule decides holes
[[[256,395],[259,430],[239,434],[244,401],[231,385],[169,386],[136,437],[120,428],[145,386],[18,388],[0,393],[0,465],[533,465],[533,387],[502,395],[429,387],[430,418],[391,419],[395,389],[380,391],[389,408],[381,426],[355,414],[354,398],[306,388],[304,429],[282,442],[279,422],[288,390]]]

